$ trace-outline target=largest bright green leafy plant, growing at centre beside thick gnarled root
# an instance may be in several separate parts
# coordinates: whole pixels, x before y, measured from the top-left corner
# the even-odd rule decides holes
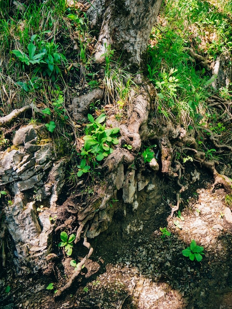
[[[84,146],[81,148],[80,155],[89,160],[96,158],[97,161],[103,160],[113,153],[113,145],[118,144],[119,128],[107,129],[105,114],[101,114],[96,119],[88,114],[90,123],[86,125],[86,135],[83,137]]]

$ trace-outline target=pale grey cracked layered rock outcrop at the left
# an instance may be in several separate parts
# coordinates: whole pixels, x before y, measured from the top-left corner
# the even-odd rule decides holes
[[[0,153],[0,187],[7,187],[13,196],[12,205],[4,209],[5,224],[21,272],[36,272],[46,264],[52,249],[50,217],[64,185],[66,161],[54,156],[51,140],[41,141],[44,132],[44,126],[22,127],[13,146]]]

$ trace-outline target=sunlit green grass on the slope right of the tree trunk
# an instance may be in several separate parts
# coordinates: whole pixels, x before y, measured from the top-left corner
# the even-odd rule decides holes
[[[157,92],[156,117],[187,127],[205,115],[206,99],[213,94],[213,89],[206,88],[212,72],[200,66],[185,47],[208,60],[231,52],[231,15],[224,4],[167,0],[162,7],[147,61],[147,74]]]

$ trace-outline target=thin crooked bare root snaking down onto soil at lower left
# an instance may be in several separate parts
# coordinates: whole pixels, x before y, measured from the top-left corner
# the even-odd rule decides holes
[[[86,237],[86,232],[88,230],[88,226],[86,227],[85,231],[84,231],[84,235],[83,235],[83,238],[84,238],[84,241],[83,241],[83,245],[89,249],[89,252],[88,254],[86,254],[86,256],[77,264],[77,267],[75,268],[74,270],[74,273],[72,274],[72,276],[70,277],[70,279],[68,280],[68,282],[63,286],[61,287],[57,293],[55,294],[55,298],[59,297],[64,291],[66,291],[67,289],[69,289],[71,287],[71,285],[73,284],[74,280],[76,279],[76,277],[78,276],[78,274],[80,273],[81,269],[82,269],[82,266],[84,265],[84,263],[86,262],[87,259],[90,258],[90,256],[92,255],[93,253],[93,248],[92,246],[90,245],[89,242],[87,242],[87,237]]]

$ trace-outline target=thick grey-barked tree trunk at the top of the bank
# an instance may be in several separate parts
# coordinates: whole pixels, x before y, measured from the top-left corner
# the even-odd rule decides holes
[[[130,68],[138,68],[162,0],[95,0],[89,10],[93,26],[102,25],[95,58],[104,61],[111,46]],[[100,15],[104,12],[103,19]]]

